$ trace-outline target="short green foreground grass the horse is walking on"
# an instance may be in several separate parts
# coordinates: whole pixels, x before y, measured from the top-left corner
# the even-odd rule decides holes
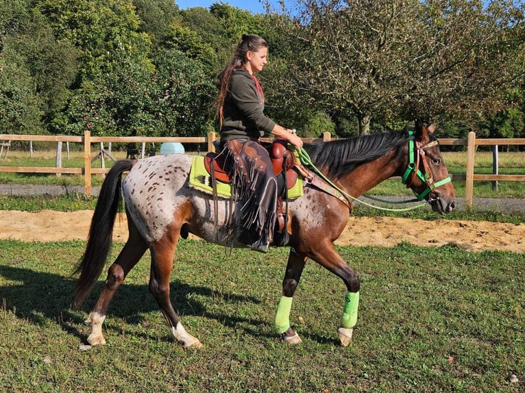
[[[81,310],[71,268],[84,242],[0,242],[0,390],[12,392],[518,392],[525,378],[525,255],[454,245],[341,247],[363,281],[354,342],[336,329],[345,288],[309,262],[291,323],[303,343],[273,332],[286,250],[267,255],[182,241],[171,298],[204,344],[169,337],[147,289],[145,258],[103,325],[108,344],[79,351]],[[119,250],[117,246],[115,251]],[[519,383],[509,383],[516,374]]]

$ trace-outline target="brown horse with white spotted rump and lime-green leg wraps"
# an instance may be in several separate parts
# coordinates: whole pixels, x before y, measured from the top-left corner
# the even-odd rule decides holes
[[[419,199],[430,203],[432,210],[446,214],[456,205],[455,192],[433,131],[433,125],[417,125],[412,132],[388,131],[304,144],[304,150],[319,171],[348,196],[360,197],[381,181],[401,176],[406,187],[411,188]],[[126,275],[149,249],[149,291],[156,299],[173,339],[184,348],[202,346],[184,329],[170,300],[169,283],[178,240],[193,233],[203,240],[224,246],[246,245],[232,239],[231,200],[189,186],[191,162],[191,156],[185,154],[119,160],[104,179],[86,250],[74,272],[80,274],[75,290],[76,307],[84,303],[106,265],[112,229],[122,199],[129,237],[108,268],[102,292],[86,320],[91,325],[87,338],[89,344],[106,343],[101,327],[110,301]],[[123,176],[127,171],[129,173]],[[289,315],[293,294],[307,259],[313,259],[343,280],[347,293],[337,334],[343,346],[352,340],[361,283],[358,272],[333,246],[347,225],[349,211],[352,211],[351,203],[345,203],[307,181],[302,196],[289,201],[286,230],[289,232],[287,246],[290,253],[282,281],[282,296],[273,321],[276,335],[286,343],[301,342],[290,325]]]

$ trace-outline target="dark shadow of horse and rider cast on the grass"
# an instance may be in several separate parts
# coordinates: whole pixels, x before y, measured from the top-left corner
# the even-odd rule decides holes
[[[73,306],[73,294],[75,292],[76,279],[54,275],[45,272],[36,272],[24,268],[12,266],[0,266],[0,275],[17,284],[5,286],[1,289],[0,299],[5,299],[5,308],[12,311],[17,318],[23,319],[34,325],[46,325],[49,321],[56,322],[66,333],[75,335],[85,341],[83,333],[85,315],[77,312]],[[81,307],[82,310],[90,312],[101,292],[103,283],[99,282],[88,301]],[[260,336],[258,326],[267,323],[255,318],[240,318],[227,313],[210,313],[206,307],[195,299],[200,295],[213,299],[217,294],[206,286],[191,286],[182,281],[171,283],[171,300],[173,307],[180,316],[202,316],[219,321],[225,327],[236,328],[241,324],[241,329],[247,334]],[[222,296],[222,301],[228,303],[254,303],[261,301],[254,296],[229,293]],[[126,323],[141,324],[149,312],[160,312],[160,309],[151,296],[147,285],[136,285],[124,283],[114,296],[108,311],[108,318],[123,318]],[[152,337],[143,334],[146,339]],[[166,340],[171,340],[167,335]]]

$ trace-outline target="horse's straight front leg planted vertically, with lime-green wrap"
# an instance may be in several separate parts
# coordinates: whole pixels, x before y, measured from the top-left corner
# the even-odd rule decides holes
[[[300,336],[290,327],[290,311],[292,299],[306,264],[306,256],[299,255],[294,249],[290,250],[286,272],[282,280],[282,296],[277,306],[274,326],[288,344],[300,344]]]

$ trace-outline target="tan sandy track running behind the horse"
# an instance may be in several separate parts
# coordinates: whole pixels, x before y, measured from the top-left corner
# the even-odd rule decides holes
[[[0,240],[52,242],[86,240],[92,210],[38,213],[0,211]],[[125,242],[125,216],[117,218],[114,241]],[[410,220],[390,217],[350,217],[337,244],[395,246],[410,242],[418,246],[455,243],[467,251],[501,250],[525,253],[525,224],[486,221]]]

